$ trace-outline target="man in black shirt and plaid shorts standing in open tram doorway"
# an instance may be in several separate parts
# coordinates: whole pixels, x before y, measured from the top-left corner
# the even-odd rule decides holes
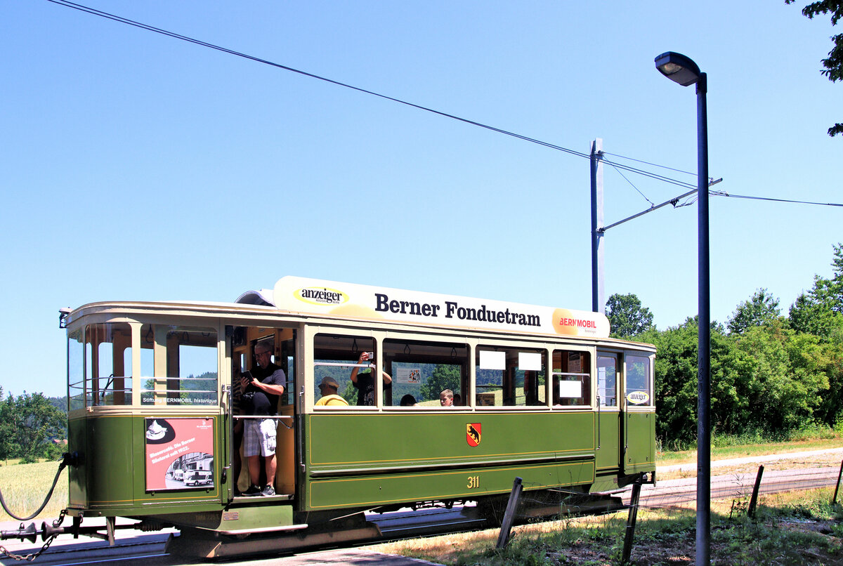
[[[250,416],[274,416],[278,410],[278,398],[284,392],[287,376],[281,367],[272,363],[271,345],[255,344],[257,367],[240,376],[243,390],[241,406]],[[243,455],[249,467],[251,485],[244,495],[275,495],[275,471],[277,467],[275,449],[277,424],[275,419],[244,419]],[[266,467],[266,486],[260,487],[260,460],[263,456]]]

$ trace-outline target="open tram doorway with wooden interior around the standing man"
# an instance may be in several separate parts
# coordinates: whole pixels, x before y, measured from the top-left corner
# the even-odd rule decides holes
[[[232,346],[232,413],[229,438],[232,440],[233,471],[238,468],[239,475],[234,478],[240,493],[250,486],[250,475],[246,458],[243,456],[242,430],[250,415],[243,408],[249,406],[249,400],[239,395],[237,384],[245,371],[255,371],[255,376],[262,376],[262,370],[255,355],[258,350],[271,352],[271,363],[279,366],[286,376],[284,392],[278,398],[276,421],[276,475],[275,490],[277,495],[295,494],[295,430],[294,430],[294,376],[296,375],[296,331],[293,328],[234,327],[231,332]],[[240,418],[238,418],[240,417]],[[266,485],[266,462],[260,457],[260,485]],[[260,498],[258,498],[260,499]],[[258,500],[255,499],[255,500]]]

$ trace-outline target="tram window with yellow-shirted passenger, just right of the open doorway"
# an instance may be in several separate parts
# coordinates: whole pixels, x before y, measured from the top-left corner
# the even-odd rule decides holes
[[[314,337],[315,398],[317,400],[320,398],[319,383],[325,377],[330,377],[339,386],[337,395],[345,399],[349,405],[374,405],[376,389],[372,375],[375,369],[372,366],[377,360],[361,361],[364,352],[374,354],[374,345],[374,339],[371,337],[317,334]],[[369,356],[365,357],[369,358]],[[351,378],[355,370],[357,370],[358,387]],[[385,377],[383,379],[386,380]],[[384,391],[389,387],[389,383],[384,383]],[[330,408],[331,405],[327,407]]]

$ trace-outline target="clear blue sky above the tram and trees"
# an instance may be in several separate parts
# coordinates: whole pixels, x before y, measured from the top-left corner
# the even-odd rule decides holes
[[[694,172],[694,88],[653,66],[678,51],[708,74],[714,189],[843,201],[843,139],[825,133],[843,119],[843,86],[819,72],[840,29],[783,0],[87,5]],[[64,393],[58,308],[87,302],[232,301],[302,275],[591,306],[586,159],[46,0],[0,3],[0,52],[5,392]],[[637,191],[656,204],[685,192],[626,176],[605,168],[606,223],[650,206]],[[759,287],[787,312],[830,275],[841,218],[712,196],[712,318]],[[658,328],[695,315],[696,206],[605,242],[607,296],[635,293]]]

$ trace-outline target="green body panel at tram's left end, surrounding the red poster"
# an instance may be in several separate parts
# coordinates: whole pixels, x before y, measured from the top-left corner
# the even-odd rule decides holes
[[[68,467],[69,505],[85,515],[158,515],[222,509],[219,457],[214,459],[214,487],[146,491],[144,419],[148,415],[94,415],[69,420],[69,451],[80,465]],[[168,415],[172,418],[172,415]],[[214,451],[221,454],[220,419],[214,419]]]

